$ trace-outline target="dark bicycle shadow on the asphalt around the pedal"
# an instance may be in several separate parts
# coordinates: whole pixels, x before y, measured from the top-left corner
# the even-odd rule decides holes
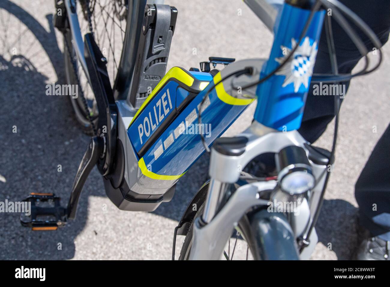
[[[50,27],[47,32],[34,17],[8,0],[0,2],[0,9],[2,15],[8,12],[26,25],[37,39],[32,42],[33,45],[41,45],[49,58],[48,62],[58,78],[55,84],[65,84],[62,71],[64,59],[57,45],[52,15],[46,16]],[[4,19],[7,20],[6,17]],[[17,35],[18,40],[23,40],[23,45],[28,45],[25,37],[22,33]],[[11,41],[7,41],[6,36],[5,39],[2,37],[4,47],[12,45]],[[29,48],[26,47],[26,50]],[[0,174],[7,181],[0,182],[0,201],[21,201],[31,192],[50,192],[60,196],[62,205],[66,205],[89,137],[76,127],[66,96],[46,95],[49,78],[37,70],[30,61],[32,59],[6,52],[7,59],[5,55],[0,55],[0,127],[3,131],[0,134]],[[13,132],[14,127],[16,132]],[[58,172],[58,164],[61,172]],[[105,196],[101,176],[96,169],[83,189],[77,220],[56,232],[32,232],[20,225],[19,213],[0,213],[0,259],[73,258],[74,239],[86,224],[88,194]]]

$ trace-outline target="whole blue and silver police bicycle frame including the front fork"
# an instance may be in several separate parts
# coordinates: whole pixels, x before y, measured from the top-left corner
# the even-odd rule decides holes
[[[67,5],[71,1],[73,0],[66,0]],[[252,1],[252,4],[254,2],[259,1]],[[249,59],[234,62],[214,77],[209,73],[188,73],[181,68],[172,68],[161,79],[140,109],[136,110],[129,104],[131,96],[129,91],[132,90],[131,67],[134,68],[135,65],[134,51],[136,49],[134,47],[137,46],[135,28],[139,28],[142,23],[140,14],[144,13],[142,4],[145,4],[145,1],[142,3],[129,1],[129,5],[133,5],[134,9],[133,13],[128,15],[128,28],[124,40],[129,47],[125,47],[123,51],[129,52],[129,48],[133,50],[125,60],[122,59],[122,61],[128,61],[127,67],[130,67],[127,79],[119,87],[118,81],[123,79],[125,72],[120,71],[114,86],[118,109],[116,165],[112,176],[103,177],[106,194],[117,207],[123,210],[152,211],[161,202],[169,201],[174,194],[176,182],[205,151],[199,135],[180,137],[181,133],[178,133],[177,129],[183,127],[182,125],[187,126],[195,122],[197,113],[202,109],[202,119],[214,127],[213,135],[206,138],[206,144],[211,146],[213,141],[222,135],[253,102],[254,97],[258,98],[254,123],[239,135],[247,139],[242,146],[243,153],[223,154],[212,149],[209,168],[211,181],[202,223],[198,218],[194,224],[194,241],[190,259],[219,259],[232,229],[246,210],[267,204],[268,201],[259,199],[259,193],[273,189],[277,185],[276,181],[244,185],[217,213],[220,198],[225,193],[227,184],[232,184],[239,179],[240,169],[238,167],[246,166],[257,155],[267,152],[277,153],[282,148],[291,145],[300,146],[307,155],[310,153],[307,148],[309,143],[296,130],[301,123],[324,11],[314,13],[303,41],[298,43],[297,52],[299,54],[294,53],[292,59],[295,61],[293,63],[296,63],[296,71],[291,71],[291,64],[287,63],[288,69],[282,70],[283,73],[273,75],[259,87],[247,89],[245,94],[234,87],[243,87],[255,82],[264,75],[268,75],[278,66],[278,63],[283,61],[288,51],[294,48],[296,43],[294,41],[299,39],[305,24],[303,20],[308,18],[310,8],[314,5],[313,2],[312,0],[286,0],[280,16],[273,14],[268,18],[267,26],[275,30],[275,40],[268,61]],[[70,6],[69,9],[71,9]],[[79,39],[77,16],[75,13],[68,13],[68,18],[71,22],[73,38]],[[83,50],[79,47],[82,43],[76,42],[76,55],[83,58]],[[84,69],[83,61],[81,63]],[[225,76],[246,67],[254,67],[250,75],[230,77],[224,80],[223,84],[218,84]],[[85,71],[88,75],[87,69]],[[218,85],[213,87],[213,84]],[[176,91],[179,88],[183,88],[188,93],[182,97],[178,96]],[[205,105],[200,107],[207,92],[209,93],[208,99]],[[189,100],[186,102],[187,99]],[[160,103],[159,116],[156,112],[158,103]],[[169,120],[164,122],[161,120],[161,108],[165,111],[163,116]],[[153,114],[155,118],[152,117]],[[145,123],[148,124],[149,129],[146,128]],[[151,130],[153,125],[156,129]],[[185,160],[179,160],[181,158]],[[296,237],[308,235],[305,232],[312,221],[310,214],[317,209],[324,185],[324,178],[321,175],[324,174],[327,166],[316,164],[312,160],[310,164],[317,184],[310,191],[308,200],[300,205],[300,216],[293,216],[289,221]],[[309,235],[310,244],[300,254],[303,259],[310,256],[317,242],[315,230]],[[292,240],[296,244],[296,240]]]

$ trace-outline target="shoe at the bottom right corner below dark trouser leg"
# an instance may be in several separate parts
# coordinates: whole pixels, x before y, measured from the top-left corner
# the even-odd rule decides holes
[[[367,230],[361,232],[356,260],[390,260],[390,241],[372,236]]]

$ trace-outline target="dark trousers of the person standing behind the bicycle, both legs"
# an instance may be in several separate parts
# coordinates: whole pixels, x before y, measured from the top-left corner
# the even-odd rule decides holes
[[[382,45],[386,43],[390,32],[389,0],[341,0],[341,2],[358,14],[371,27],[381,40]],[[332,28],[339,73],[351,73],[361,55],[334,19],[332,19]],[[356,31],[362,37],[369,51],[378,48],[374,47],[360,30],[356,29]],[[323,29],[321,35],[314,73],[332,73],[325,29]],[[349,82],[341,84],[345,84],[346,89],[348,89]],[[313,95],[312,84],[307,96],[302,125],[299,129],[301,135],[307,141],[313,143],[323,134],[334,116],[334,97]],[[390,125],[376,144],[355,185],[355,197],[360,210],[360,224],[373,235],[379,235],[386,241],[390,241],[389,170]]]

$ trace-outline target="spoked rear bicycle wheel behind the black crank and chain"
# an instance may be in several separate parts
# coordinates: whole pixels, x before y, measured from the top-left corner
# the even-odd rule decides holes
[[[127,0],[76,0],[81,34],[91,32],[92,28],[95,41],[107,59],[107,71],[112,86],[119,70],[127,11]],[[69,29],[64,33],[64,60],[67,84],[78,85],[79,96],[69,97],[75,118],[83,132],[93,135],[99,111],[87,76],[76,57]]]

